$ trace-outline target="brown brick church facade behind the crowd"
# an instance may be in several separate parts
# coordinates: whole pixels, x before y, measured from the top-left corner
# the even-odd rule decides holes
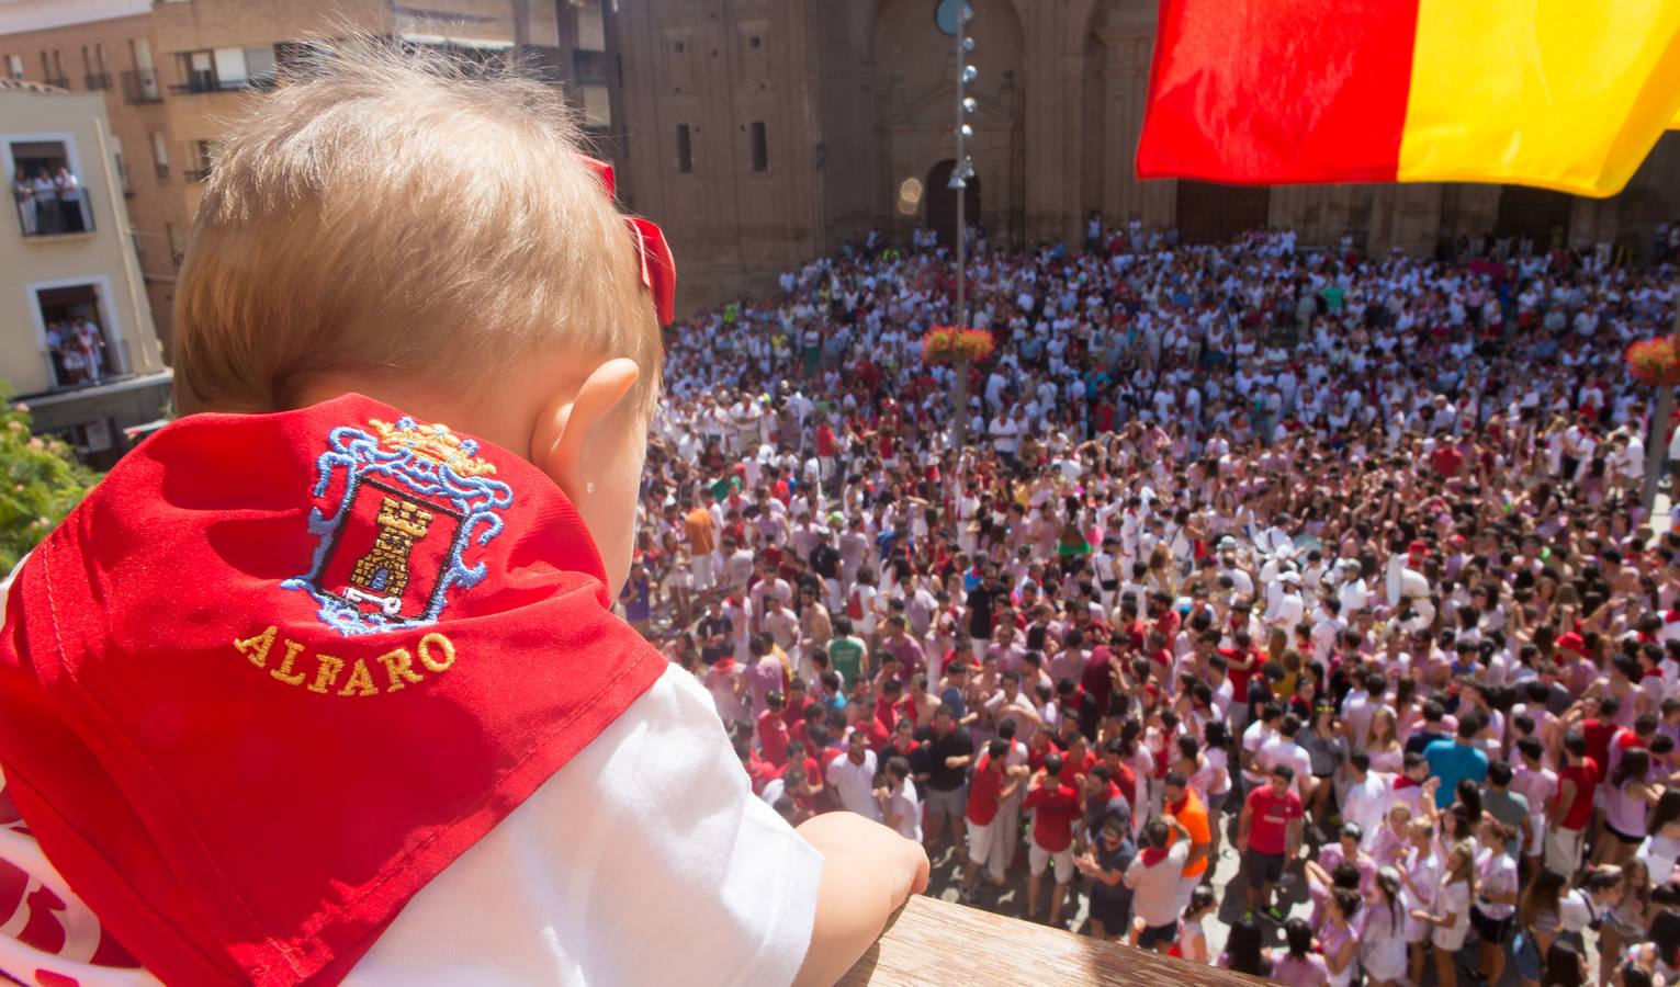
[[[672,240],[685,304],[763,287],[869,228],[954,227],[961,0],[638,0],[608,13],[612,151]],[[1680,215],[1680,136],[1609,200],[1494,185],[1139,181],[1154,0],[969,0],[978,102],[964,208],[995,242],[1077,242],[1092,212],[1218,242],[1294,227],[1369,250],[1520,233],[1650,240]],[[610,5],[603,5],[606,8]]]

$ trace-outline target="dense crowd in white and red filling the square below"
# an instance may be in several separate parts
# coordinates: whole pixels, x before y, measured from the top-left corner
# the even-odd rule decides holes
[[[1284,984],[1675,982],[1675,269],[1094,223],[974,232],[973,366],[927,237],[669,336],[622,604],[754,791]]]

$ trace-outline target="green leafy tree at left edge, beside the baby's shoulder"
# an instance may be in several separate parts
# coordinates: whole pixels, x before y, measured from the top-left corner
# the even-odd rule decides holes
[[[64,441],[30,431],[29,408],[0,383],[0,576],[47,537],[99,473]]]

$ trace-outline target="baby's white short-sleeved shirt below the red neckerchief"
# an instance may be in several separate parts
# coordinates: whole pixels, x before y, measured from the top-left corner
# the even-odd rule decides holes
[[[346,984],[786,984],[822,870],[672,666],[422,888]]]

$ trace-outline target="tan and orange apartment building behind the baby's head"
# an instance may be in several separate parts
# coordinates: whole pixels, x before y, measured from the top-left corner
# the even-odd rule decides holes
[[[170,344],[175,275],[227,121],[311,40],[365,30],[568,86],[612,156],[601,0],[0,0],[0,77],[97,92],[153,321]],[[612,0],[608,0],[612,2]]]

